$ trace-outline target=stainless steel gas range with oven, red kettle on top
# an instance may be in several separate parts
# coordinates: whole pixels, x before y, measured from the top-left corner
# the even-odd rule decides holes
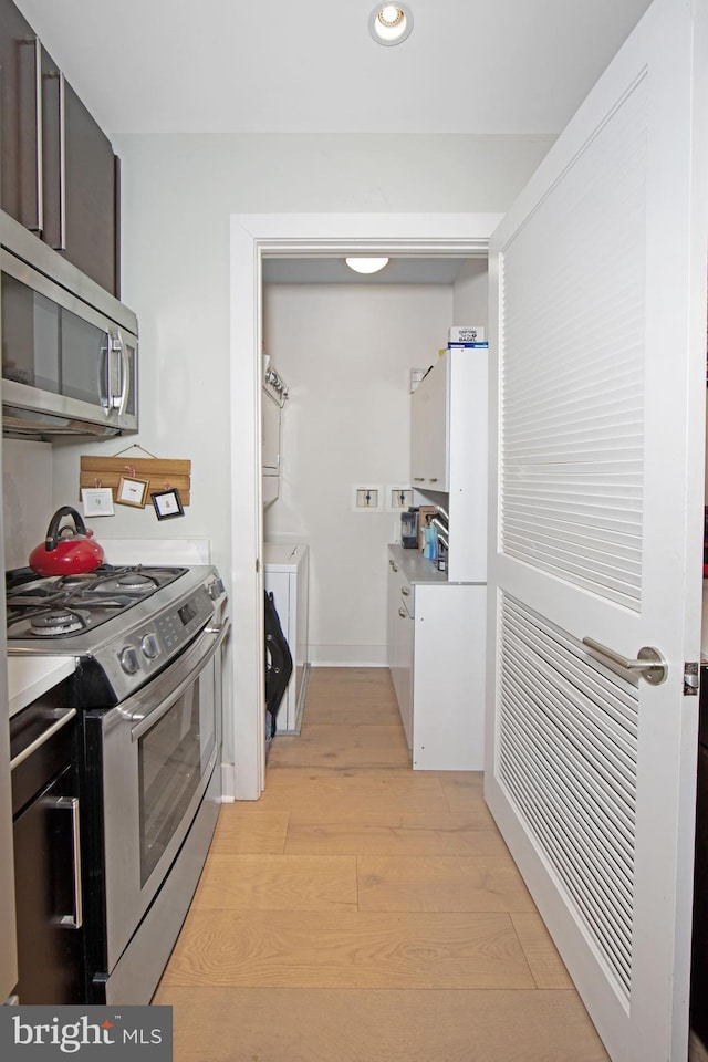
[[[218,813],[223,584],[208,565],[6,582],[8,653],[77,660],[85,1001],[148,1002]]]

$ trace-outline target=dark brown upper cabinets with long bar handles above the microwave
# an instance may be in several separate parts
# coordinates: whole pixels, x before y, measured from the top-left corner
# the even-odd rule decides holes
[[[0,206],[119,298],[119,160],[32,27],[0,0]]]

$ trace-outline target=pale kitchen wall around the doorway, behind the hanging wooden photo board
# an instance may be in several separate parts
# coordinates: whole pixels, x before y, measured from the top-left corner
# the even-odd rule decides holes
[[[166,527],[147,509],[123,507],[95,529],[102,541],[208,538],[230,584],[231,215],[494,214],[508,207],[553,140],[396,134],[116,140],[123,298],[136,311],[140,332],[142,430],[135,441],[158,457],[191,460],[192,483],[183,519]],[[77,498],[81,454],[114,455],[127,441],[55,447],[54,506]],[[231,741],[227,719],[227,757]]]

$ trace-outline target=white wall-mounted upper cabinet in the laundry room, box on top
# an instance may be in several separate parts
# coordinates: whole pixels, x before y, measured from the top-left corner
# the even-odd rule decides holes
[[[446,351],[412,396],[410,481],[444,493],[448,576],[487,581],[488,351]],[[439,502],[434,497],[436,503]]]

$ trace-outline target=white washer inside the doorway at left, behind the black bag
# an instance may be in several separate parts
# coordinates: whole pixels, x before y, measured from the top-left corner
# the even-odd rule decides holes
[[[300,733],[310,671],[308,646],[308,582],[310,556],[305,543],[263,545],[263,584],[273,594],[275,610],[292,654],[293,671],[278,710],[278,733]]]

